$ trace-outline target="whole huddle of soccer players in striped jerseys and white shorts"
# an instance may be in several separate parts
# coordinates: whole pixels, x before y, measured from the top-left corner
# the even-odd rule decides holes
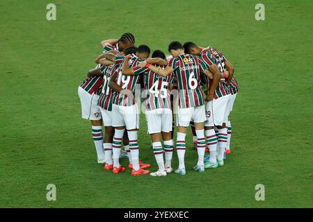
[[[138,106],[142,101],[159,167],[151,176],[166,176],[173,171],[174,146],[179,160],[175,173],[186,174],[188,126],[192,128],[198,151],[198,162],[193,169],[204,172],[204,169],[223,166],[226,154],[230,153],[232,127],[228,116],[239,89],[230,61],[220,51],[193,42],[184,45],[170,42],[171,56],[156,50],[152,58],[149,58],[148,46],[134,44],[131,33],[123,34],[118,40],[102,41],[104,51],[95,60],[97,66],[88,71],[88,78],[78,89],[82,118],[92,122],[98,163],[104,164],[104,170],[116,174],[125,171],[120,158],[127,156],[132,176],[150,173],[147,170],[150,164],[139,158]],[[204,157],[206,146],[209,155]]]

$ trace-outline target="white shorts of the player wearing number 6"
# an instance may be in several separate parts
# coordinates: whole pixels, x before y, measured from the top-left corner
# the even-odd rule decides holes
[[[204,105],[191,108],[178,108],[177,126],[188,127],[190,122],[201,123],[206,120]]]

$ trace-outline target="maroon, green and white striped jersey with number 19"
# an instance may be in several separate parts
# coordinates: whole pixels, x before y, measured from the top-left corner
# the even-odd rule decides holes
[[[115,71],[115,74],[118,76],[116,83],[122,87],[122,89],[128,89],[131,90],[131,92],[134,95],[134,91],[136,88],[136,85],[138,83],[138,80],[140,78],[140,75],[135,76],[124,76],[122,75],[122,62],[124,61],[125,56],[116,56],[115,57],[115,64],[121,64],[120,69]],[[138,58],[134,54],[131,54],[131,57],[128,62],[128,66],[132,67],[134,71],[142,72],[145,70],[145,67],[141,68],[138,67],[138,62],[143,62],[143,59]],[[135,105],[135,95],[132,98],[129,98],[127,95],[120,94],[118,92],[113,93],[112,102],[115,105],[123,105],[123,106],[130,106]]]

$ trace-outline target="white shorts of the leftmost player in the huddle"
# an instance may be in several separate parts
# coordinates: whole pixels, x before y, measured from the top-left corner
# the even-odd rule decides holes
[[[101,112],[99,109],[97,94],[90,95],[85,89],[79,86],[79,99],[81,100],[81,118],[89,120],[101,119]]]

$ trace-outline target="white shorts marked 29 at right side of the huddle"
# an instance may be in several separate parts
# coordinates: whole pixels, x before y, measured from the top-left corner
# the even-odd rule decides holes
[[[207,121],[204,122],[204,126],[222,126],[223,123],[227,122],[227,105],[229,99],[230,95],[227,95],[205,103]]]

